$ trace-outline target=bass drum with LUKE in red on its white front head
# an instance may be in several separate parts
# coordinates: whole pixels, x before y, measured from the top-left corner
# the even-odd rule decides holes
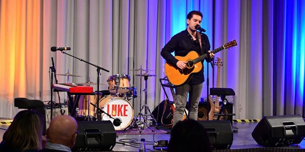
[[[126,99],[121,97],[106,96],[99,100],[98,106],[113,118],[120,119],[122,121],[119,126],[114,125],[115,130],[123,130],[131,124],[134,111],[131,104]],[[105,113],[101,113],[101,120],[110,120],[113,123],[114,119],[110,118]]]

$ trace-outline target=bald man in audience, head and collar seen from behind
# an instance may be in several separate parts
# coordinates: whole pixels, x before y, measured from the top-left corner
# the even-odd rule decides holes
[[[77,122],[68,115],[53,118],[46,130],[49,142],[40,151],[71,151],[77,136]]]

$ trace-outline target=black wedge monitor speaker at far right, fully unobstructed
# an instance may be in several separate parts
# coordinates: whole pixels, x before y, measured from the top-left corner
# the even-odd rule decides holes
[[[252,131],[255,141],[264,146],[300,143],[305,136],[305,122],[299,115],[266,116]]]

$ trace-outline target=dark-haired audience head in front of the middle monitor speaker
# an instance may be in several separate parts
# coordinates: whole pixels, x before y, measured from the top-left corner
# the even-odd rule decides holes
[[[212,151],[210,139],[204,126],[193,119],[178,121],[171,131],[169,152]]]

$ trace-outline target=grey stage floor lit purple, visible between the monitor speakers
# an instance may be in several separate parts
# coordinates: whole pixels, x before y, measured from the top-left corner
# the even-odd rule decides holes
[[[4,122],[4,119],[0,119]],[[245,149],[245,148],[260,148],[257,142],[252,138],[251,133],[256,127],[258,122],[233,122],[233,129],[236,128],[237,132],[233,132],[233,144],[230,149]],[[9,124],[0,123],[0,141],[2,141],[3,133],[9,127]],[[154,149],[152,145],[159,140],[170,139],[170,129],[166,127],[160,127],[160,129],[167,131],[164,134],[153,134],[149,129],[144,129],[145,132],[151,132],[151,134],[119,134],[117,136],[117,143],[113,148],[113,151],[138,151],[139,142],[141,138],[146,140],[146,148],[148,151],[160,151]],[[125,141],[125,142],[124,142]],[[302,140],[300,144],[293,145],[291,148],[305,149],[305,141]]]

